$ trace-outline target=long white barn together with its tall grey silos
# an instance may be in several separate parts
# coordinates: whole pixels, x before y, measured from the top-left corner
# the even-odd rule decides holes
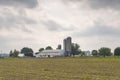
[[[63,40],[63,49],[61,50],[61,45],[58,46],[57,50],[43,50],[42,52],[37,52],[35,57],[57,57],[57,56],[70,56],[71,54],[72,38],[67,37]]]

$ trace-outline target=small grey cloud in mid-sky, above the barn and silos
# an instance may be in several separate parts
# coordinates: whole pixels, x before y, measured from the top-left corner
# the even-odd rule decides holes
[[[48,20],[48,21],[42,21],[42,24],[45,25],[45,27],[50,31],[70,31],[73,30],[72,27],[66,28],[62,24],[54,21],[54,20]]]

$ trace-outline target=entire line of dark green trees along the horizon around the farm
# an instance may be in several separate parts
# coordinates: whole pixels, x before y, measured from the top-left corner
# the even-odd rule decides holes
[[[61,49],[61,45],[58,46],[58,48],[56,49]],[[39,52],[43,51],[43,50],[53,50],[53,48],[51,46],[47,46],[46,48],[40,48],[38,50],[38,52],[36,52],[35,54],[39,54]],[[18,50],[14,50],[14,51],[10,51],[10,57],[18,57],[18,54],[22,53],[25,56],[29,56],[29,57],[33,57],[33,50],[31,48],[28,47],[24,47],[22,48],[20,51]],[[93,56],[120,56],[120,47],[115,48],[114,53],[111,52],[110,48],[107,47],[102,47],[99,50],[92,50],[91,54]],[[71,56],[75,56],[75,55],[81,55],[81,56],[85,56],[85,51],[82,51],[80,49],[80,45],[77,43],[72,43],[71,46]]]

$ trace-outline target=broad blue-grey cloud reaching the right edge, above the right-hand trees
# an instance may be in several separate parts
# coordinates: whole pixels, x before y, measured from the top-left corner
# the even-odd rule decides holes
[[[81,37],[92,37],[92,36],[112,36],[118,37],[120,36],[120,29],[114,28],[111,26],[95,23],[95,25],[91,28],[83,32],[76,32],[73,34],[74,36],[81,36]]]

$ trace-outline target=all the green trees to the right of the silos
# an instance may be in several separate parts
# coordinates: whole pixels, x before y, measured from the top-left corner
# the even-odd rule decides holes
[[[111,49],[108,47],[102,47],[99,50],[92,50],[92,56],[120,56],[120,47],[115,48],[114,53],[111,52]],[[71,54],[74,55],[81,55],[85,56],[85,51],[82,51],[80,49],[79,44],[77,43],[72,43],[72,51]]]

